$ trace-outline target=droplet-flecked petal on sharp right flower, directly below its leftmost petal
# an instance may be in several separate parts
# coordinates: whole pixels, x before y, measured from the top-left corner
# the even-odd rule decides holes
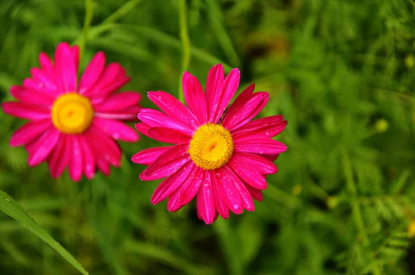
[[[142,180],[161,179],[172,175],[178,168],[181,168],[185,163],[190,161],[189,154],[187,154],[188,144],[178,144],[172,146],[160,154],[151,165],[140,175]]]

